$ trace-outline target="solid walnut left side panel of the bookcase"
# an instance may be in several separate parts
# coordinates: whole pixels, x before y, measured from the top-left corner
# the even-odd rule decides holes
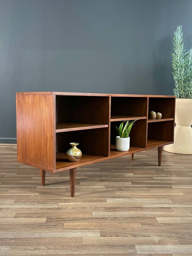
[[[55,169],[54,95],[16,95],[17,159]]]

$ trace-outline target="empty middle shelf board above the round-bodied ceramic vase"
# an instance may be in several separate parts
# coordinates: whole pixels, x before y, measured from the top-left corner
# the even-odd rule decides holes
[[[108,127],[108,124],[57,123],[56,132],[70,132],[105,127]]]

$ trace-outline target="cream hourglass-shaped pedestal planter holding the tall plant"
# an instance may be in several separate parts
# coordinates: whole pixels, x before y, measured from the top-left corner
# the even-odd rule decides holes
[[[165,151],[192,154],[192,99],[176,99],[174,143],[166,145]]]

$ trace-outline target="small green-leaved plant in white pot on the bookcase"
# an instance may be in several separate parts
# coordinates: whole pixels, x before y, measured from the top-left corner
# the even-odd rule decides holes
[[[137,119],[138,120],[138,119]],[[128,151],[130,147],[130,137],[129,133],[131,131],[131,128],[134,124],[135,121],[129,123],[129,121],[124,121],[119,125],[119,128],[116,126],[116,130],[119,134],[119,136],[116,136],[116,149],[118,151]],[[125,123],[126,122],[126,123]],[[124,125],[125,123],[125,125]]]

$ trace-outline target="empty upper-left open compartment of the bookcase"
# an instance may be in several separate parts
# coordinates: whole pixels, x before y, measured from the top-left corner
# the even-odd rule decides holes
[[[109,97],[56,95],[56,132],[108,127]]]

